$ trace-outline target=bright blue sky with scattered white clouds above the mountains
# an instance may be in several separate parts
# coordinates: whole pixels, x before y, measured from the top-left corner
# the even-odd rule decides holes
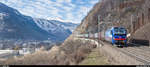
[[[80,23],[99,0],[0,0],[24,15]]]

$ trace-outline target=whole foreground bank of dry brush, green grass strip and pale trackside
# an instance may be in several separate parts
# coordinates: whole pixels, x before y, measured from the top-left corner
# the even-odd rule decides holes
[[[93,47],[97,45],[96,48]],[[101,43],[102,44],[102,43]],[[42,49],[25,55],[14,57],[0,64],[11,65],[139,65],[131,56],[116,50],[108,43],[103,46],[96,40],[74,38],[61,46],[54,46],[50,51]]]

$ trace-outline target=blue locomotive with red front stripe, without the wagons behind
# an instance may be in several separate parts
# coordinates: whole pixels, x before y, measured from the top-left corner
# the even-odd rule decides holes
[[[117,46],[127,46],[127,31],[123,27],[112,27],[105,32],[105,40]]]

